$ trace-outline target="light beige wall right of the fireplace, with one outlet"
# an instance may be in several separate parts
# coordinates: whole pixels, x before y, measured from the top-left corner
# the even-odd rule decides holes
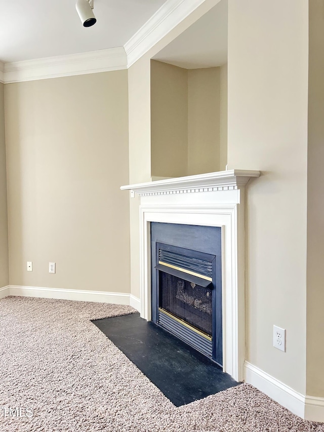
[[[228,4],[229,169],[262,171],[247,192],[247,360],[302,394],[307,8],[304,0]],[[273,325],[287,329],[287,352],[272,346]]]

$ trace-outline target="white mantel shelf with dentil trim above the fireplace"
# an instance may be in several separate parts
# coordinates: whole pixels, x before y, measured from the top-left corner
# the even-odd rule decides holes
[[[227,170],[214,173],[198,174],[186,177],[175,177],[166,180],[150,181],[147,183],[129,184],[121,186],[121,190],[134,190],[139,195],[160,193],[181,193],[203,189],[204,191],[237,189],[245,186],[250,178],[259,177],[260,171]],[[197,190],[198,191],[198,190]]]

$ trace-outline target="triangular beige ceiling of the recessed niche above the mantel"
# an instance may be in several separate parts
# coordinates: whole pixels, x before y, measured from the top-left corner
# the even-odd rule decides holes
[[[153,58],[186,69],[227,63],[227,11],[221,0]]]

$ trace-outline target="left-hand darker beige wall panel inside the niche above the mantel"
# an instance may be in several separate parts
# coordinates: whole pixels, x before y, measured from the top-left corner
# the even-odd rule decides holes
[[[151,175],[187,175],[188,71],[151,60]]]

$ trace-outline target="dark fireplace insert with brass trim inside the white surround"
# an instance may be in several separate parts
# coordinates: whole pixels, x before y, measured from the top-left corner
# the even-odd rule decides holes
[[[151,222],[152,321],[223,365],[221,228]]]

